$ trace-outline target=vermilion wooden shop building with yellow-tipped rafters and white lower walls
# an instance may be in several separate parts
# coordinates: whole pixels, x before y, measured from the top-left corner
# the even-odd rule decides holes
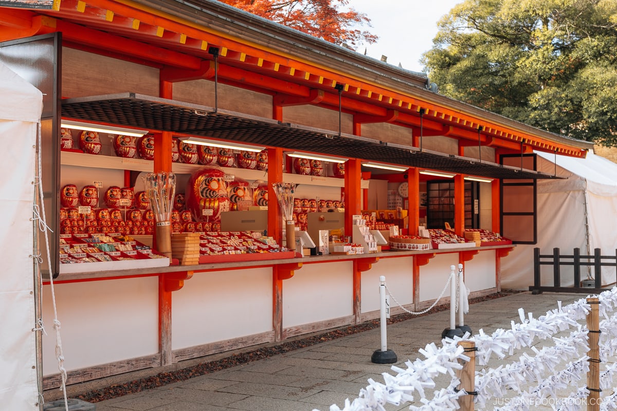
[[[174,171],[186,182],[199,166],[172,163],[172,137],[197,136],[267,147],[267,173],[235,171],[249,181],[296,182],[301,197],[342,194],[346,233],[353,215],[388,208],[388,191],[407,183],[402,205],[416,234],[430,214],[424,195],[430,200],[430,187],[447,184],[457,234],[473,226],[531,243],[534,182],[552,177],[534,171],[532,152],[584,157],[592,148],[444,97],[418,73],[218,2],[62,0],[49,10],[0,9],[0,61],[45,93],[43,178],[56,234],[54,193],[62,185],[123,187],[144,171]],[[61,152],[62,120],[147,130],[155,136],[154,161]],[[292,151],[346,159],[344,179],[294,174]],[[368,161],[406,171],[371,173]],[[424,170],[453,176],[438,180]],[[476,182],[470,195],[477,201],[466,210],[469,176],[489,182]],[[268,234],[281,242],[271,187],[269,198]],[[472,295],[492,293],[512,246],[72,273],[52,258],[68,383],[375,319],[379,275],[408,309],[431,304],[459,262]],[[53,349],[53,338],[44,338],[46,389],[60,383]]]

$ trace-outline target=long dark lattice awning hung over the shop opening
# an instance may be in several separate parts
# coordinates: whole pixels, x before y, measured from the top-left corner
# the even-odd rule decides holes
[[[559,178],[478,158],[421,150],[351,134],[339,135],[331,130],[135,93],[64,99],[62,116],[495,179]]]

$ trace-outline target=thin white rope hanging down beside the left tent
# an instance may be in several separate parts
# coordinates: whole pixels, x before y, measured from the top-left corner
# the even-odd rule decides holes
[[[39,230],[41,232],[43,232],[44,237],[45,237],[45,250],[47,253],[47,261],[51,261],[51,252],[49,251],[49,234],[48,232],[52,231],[48,224],[47,221],[45,219],[45,204],[43,201],[43,183],[41,181],[41,176],[43,175],[43,168],[41,166],[41,147],[42,147],[42,141],[41,141],[41,123],[38,123],[38,147],[39,150],[38,151],[38,155],[36,158],[36,163],[37,163],[37,176],[35,176],[35,185],[38,186],[38,197],[37,200],[40,202],[40,213],[39,213],[39,205],[36,204],[35,201],[35,206],[33,207],[33,214],[34,217],[33,219],[38,219],[39,220]],[[35,257],[35,261],[36,261],[36,269],[38,271],[41,270],[40,264],[41,264],[41,258],[40,258],[40,254],[38,256],[38,258]],[[54,276],[53,275],[49,275],[49,285],[50,285],[50,291],[51,291],[51,302],[52,302],[52,307],[54,309],[54,330],[56,330],[56,360],[58,361],[58,370],[60,371],[60,376],[62,379],[62,383],[60,384],[60,390],[62,391],[62,394],[64,396],[64,407],[66,410],[68,410],[68,400],[67,400],[67,370],[64,368],[64,354],[62,352],[62,340],[60,338],[60,321],[58,320],[58,311],[57,311],[57,307],[56,307],[56,291],[54,290]],[[41,282],[40,284],[41,287],[41,296],[43,295],[43,283]],[[43,328],[43,319],[38,319],[38,323],[41,326],[41,328]],[[44,328],[43,328],[44,330]],[[39,393],[39,396],[42,398],[43,394]],[[43,403],[44,401],[41,401],[41,403]]]

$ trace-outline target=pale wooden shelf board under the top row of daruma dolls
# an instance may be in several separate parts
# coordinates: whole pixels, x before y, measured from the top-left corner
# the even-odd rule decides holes
[[[109,155],[94,155],[81,152],[62,151],[60,153],[60,163],[68,166],[80,166],[90,168],[107,168],[133,171],[151,172],[154,163],[151,160],[143,160],[141,158],[123,158]],[[204,166],[184,163],[173,163],[172,171],[176,174],[192,174],[199,171]],[[220,167],[226,174],[231,174],[245,180],[263,180],[268,179],[266,171]],[[302,174],[283,174],[283,182],[294,182],[296,184],[321,185],[325,187],[344,187],[345,179],[336,177],[321,177],[321,176],[305,176]],[[368,180],[362,180],[361,187],[368,189]]]

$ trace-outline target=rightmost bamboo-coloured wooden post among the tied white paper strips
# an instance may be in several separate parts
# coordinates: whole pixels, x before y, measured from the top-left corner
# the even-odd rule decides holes
[[[589,372],[587,373],[587,411],[600,410],[600,317],[598,309],[600,300],[597,297],[587,298],[587,304],[591,306],[591,311],[587,314],[587,330],[589,332]]]

